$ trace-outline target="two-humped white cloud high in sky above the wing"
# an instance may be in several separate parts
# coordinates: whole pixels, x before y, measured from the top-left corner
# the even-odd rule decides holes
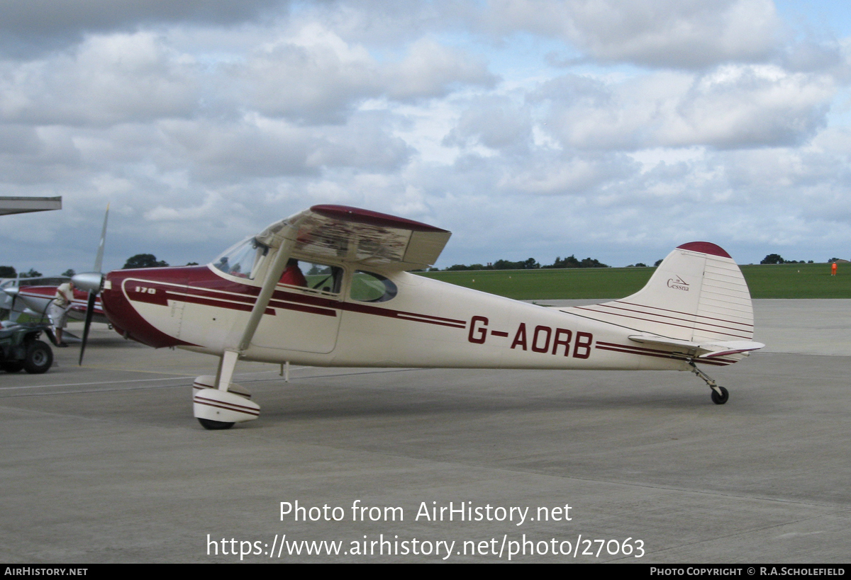
[[[258,111],[307,124],[345,122],[358,105],[381,96],[439,98],[461,86],[491,87],[496,81],[482,59],[431,38],[411,43],[399,60],[379,62],[363,45],[317,23],[229,69]]]

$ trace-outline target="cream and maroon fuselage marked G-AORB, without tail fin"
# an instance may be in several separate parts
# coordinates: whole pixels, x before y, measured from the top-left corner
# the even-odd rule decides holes
[[[688,369],[670,350],[638,348],[628,338],[634,329],[579,310],[404,271],[336,269],[333,287],[278,284],[241,358],[327,367]],[[365,296],[358,276],[374,276],[369,280],[391,291]],[[128,338],[222,355],[237,344],[261,286],[213,264],[117,270],[101,297],[106,316]]]

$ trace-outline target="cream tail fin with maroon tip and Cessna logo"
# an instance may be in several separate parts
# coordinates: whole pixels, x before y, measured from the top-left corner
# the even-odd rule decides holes
[[[648,283],[625,299],[574,308],[587,318],[688,343],[753,338],[745,278],[730,255],[710,242],[674,249]]]

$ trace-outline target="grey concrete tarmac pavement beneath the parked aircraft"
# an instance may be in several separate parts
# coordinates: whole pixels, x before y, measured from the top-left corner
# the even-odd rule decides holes
[[[96,327],[0,377],[0,560],[848,562],[851,300],[755,312],[723,406],[686,372],[239,363],[227,431],[192,418],[213,357]]]

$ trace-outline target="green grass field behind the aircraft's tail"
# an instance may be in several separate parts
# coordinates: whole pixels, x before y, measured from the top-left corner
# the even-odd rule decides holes
[[[851,299],[851,264],[744,265],[752,298]],[[565,270],[478,270],[424,272],[447,281],[512,299],[618,299],[640,290],[655,268],[574,268]]]

